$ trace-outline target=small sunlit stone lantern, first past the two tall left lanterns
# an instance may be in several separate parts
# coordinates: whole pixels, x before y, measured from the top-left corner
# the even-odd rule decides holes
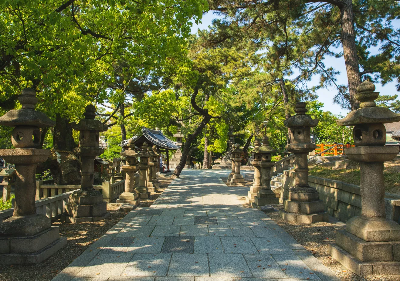
[[[135,144],[132,139],[128,141],[126,146],[128,146],[128,149],[124,152],[120,152],[120,155],[125,157],[126,162],[126,165],[121,166],[122,171],[126,172],[125,191],[121,193],[117,203],[137,206],[140,199],[138,198],[138,194],[134,191],[134,176],[135,171],[138,169],[136,167],[136,157],[138,153],[134,150]]]

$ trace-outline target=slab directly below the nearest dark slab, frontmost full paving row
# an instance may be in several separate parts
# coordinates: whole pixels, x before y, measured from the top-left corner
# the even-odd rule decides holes
[[[207,254],[172,254],[168,276],[210,276]]]

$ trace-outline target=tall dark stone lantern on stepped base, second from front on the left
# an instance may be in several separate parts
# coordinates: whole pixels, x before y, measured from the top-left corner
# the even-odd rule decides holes
[[[93,188],[94,159],[104,151],[99,147],[100,132],[107,131],[108,126],[94,119],[96,108],[91,104],[86,106],[83,115],[85,119],[72,124],[72,129],[79,131],[79,146],[74,148],[74,153],[82,161],[82,171],[80,189],[74,191],[65,204],[63,219],[70,223],[98,221],[109,215],[102,193]]]

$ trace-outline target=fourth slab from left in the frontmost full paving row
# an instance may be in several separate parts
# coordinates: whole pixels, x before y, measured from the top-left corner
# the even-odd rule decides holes
[[[211,277],[252,277],[241,254],[208,254]]]

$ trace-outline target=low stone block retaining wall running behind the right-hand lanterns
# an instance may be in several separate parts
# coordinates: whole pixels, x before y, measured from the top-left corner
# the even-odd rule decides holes
[[[284,171],[284,181],[280,191],[280,203],[288,197],[288,189],[294,186],[296,172]],[[329,215],[346,222],[361,214],[360,186],[333,179],[308,176],[308,184],[318,190],[324,201],[324,209]],[[400,195],[385,193],[386,217],[400,222]]]

